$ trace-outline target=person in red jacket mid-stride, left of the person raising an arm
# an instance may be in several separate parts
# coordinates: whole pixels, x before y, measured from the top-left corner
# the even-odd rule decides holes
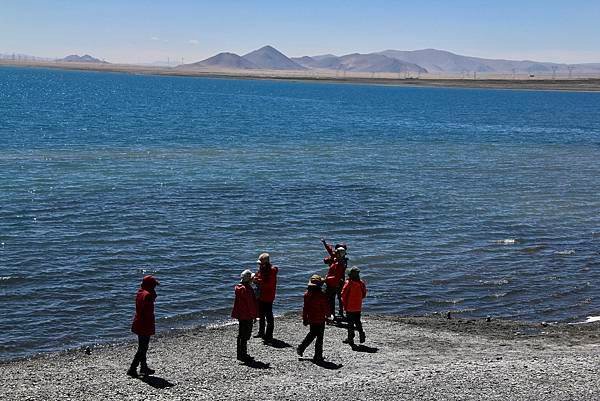
[[[311,276],[308,288],[304,293],[304,308],[302,309],[302,323],[305,326],[310,325],[310,331],[296,349],[298,355],[302,356],[306,348],[316,338],[313,360],[317,362],[323,361],[325,319],[329,315],[329,304],[327,296],[321,290],[322,286],[323,279],[321,276],[317,274]]]

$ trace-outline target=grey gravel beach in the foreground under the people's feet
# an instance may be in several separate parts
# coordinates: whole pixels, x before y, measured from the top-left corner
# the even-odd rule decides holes
[[[250,341],[256,363],[235,359],[237,326],[153,337],[154,376],[125,374],[133,343],[0,364],[2,400],[593,400],[598,324],[549,325],[443,316],[366,316],[353,350],[328,326],[326,362],[296,355],[299,317],[276,320],[277,346]]]

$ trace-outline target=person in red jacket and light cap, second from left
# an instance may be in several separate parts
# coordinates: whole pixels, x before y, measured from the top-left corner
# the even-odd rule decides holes
[[[239,322],[237,336],[237,359],[249,362],[248,340],[252,336],[252,325],[257,316],[256,296],[252,288],[252,272],[244,270],[240,274],[240,283],[235,286],[235,300],[231,317]]]

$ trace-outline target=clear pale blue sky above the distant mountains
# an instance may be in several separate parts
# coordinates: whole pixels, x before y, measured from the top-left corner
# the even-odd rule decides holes
[[[270,44],[288,56],[385,49],[600,62],[600,1],[2,0],[0,53],[198,61]]]

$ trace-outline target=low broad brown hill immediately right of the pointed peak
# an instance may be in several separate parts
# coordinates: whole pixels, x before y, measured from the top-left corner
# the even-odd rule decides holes
[[[324,55],[316,57],[299,57],[295,62],[306,68],[343,70],[354,72],[417,72],[426,73],[427,70],[417,64],[407,63],[382,54],[347,54],[337,57]]]

